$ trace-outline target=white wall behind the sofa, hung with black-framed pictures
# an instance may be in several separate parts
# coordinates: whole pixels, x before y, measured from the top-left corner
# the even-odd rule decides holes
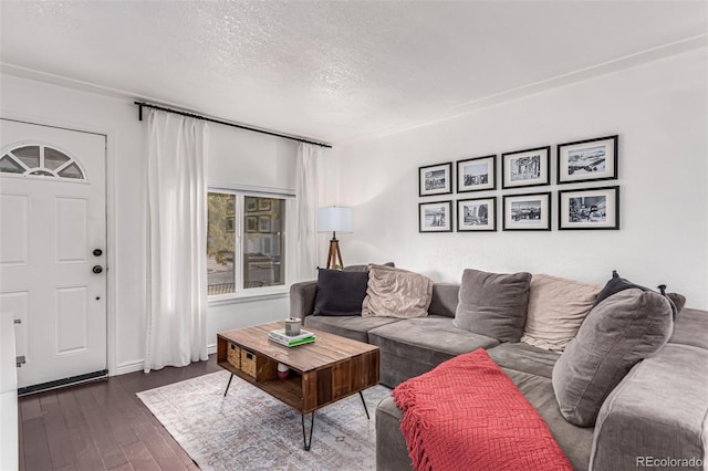
[[[706,51],[335,147],[329,198],[354,207],[347,263],[393,260],[435,281],[529,271],[604,284],[613,269],[708,308]],[[555,185],[555,144],[620,135],[618,180]],[[550,187],[418,197],[418,167],[552,145]],[[499,171],[499,163],[498,163]],[[621,230],[558,231],[559,189],[621,187]],[[501,186],[498,184],[498,188]],[[418,202],[553,191],[551,232],[418,233]],[[501,199],[498,199],[501,211]],[[498,213],[500,217],[500,212]]]

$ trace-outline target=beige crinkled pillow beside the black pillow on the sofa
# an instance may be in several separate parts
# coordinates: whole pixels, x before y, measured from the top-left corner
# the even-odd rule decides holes
[[[429,278],[394,266],[369,265],[362,315],[424,317],[428,315],[431,297],[433,280]]]

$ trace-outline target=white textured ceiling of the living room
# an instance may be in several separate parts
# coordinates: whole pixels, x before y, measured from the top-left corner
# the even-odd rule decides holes
[[[0,61],[341,143],[667,44],[705,44],[707,4],[2,0]]]

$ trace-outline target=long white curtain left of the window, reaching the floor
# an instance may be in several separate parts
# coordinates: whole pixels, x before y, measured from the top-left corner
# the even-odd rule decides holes
[[[150,109],[145,371],[207,356],[204,121]]]

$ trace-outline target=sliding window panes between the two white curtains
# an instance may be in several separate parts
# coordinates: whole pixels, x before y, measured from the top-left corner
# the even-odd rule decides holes
[[[285,284],[285,198],[209,191],[209,296]]]

